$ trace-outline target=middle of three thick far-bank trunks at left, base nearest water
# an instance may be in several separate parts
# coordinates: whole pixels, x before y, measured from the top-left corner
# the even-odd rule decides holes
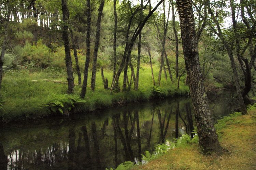
[[[88,80],[88,69],[89,69],[89,63],[90,63],[90,30],[91,30],[90,0],[86,0],[86,5],[87,5],[86,60],[84,65],[84,81],[83,81],[82,90],[80,94],[81,98],[85,97],[87,80]]]

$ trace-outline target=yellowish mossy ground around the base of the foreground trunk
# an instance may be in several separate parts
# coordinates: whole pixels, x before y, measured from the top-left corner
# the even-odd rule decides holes
[[[198,144],[174,148],[138,169],[256,169],[256,109],[248,115],[238,116],[226,122],[219,130],[219,141],[224,152],[203,155]]]

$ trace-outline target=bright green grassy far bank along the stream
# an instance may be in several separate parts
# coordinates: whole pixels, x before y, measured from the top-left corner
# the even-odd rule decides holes
[[[155,75],[157,75],[157,66],[154,66],[154,70]],[[111,71],[106,70],[104,76],[111,82]],[[66,72],[53,68],[7,70],[4,74],[0,96],[1,121],[43,118],[50,114],[61,114],[62,112],[65,114],[67,111],[69,113],[86,113],[115,104],[146,101],[152,98],[184,96],[189,91],[188,86],[183,84],[185,77],[182,77],[179,89],[177,89],[176,82],[166,81],[164,77],[162,77],[161,86],[154,87],[148,65],[144,65],[140,71],[139,90],[137,91],[110,93],[109,90],[103,88],[101,75],[97,72],[96,90],[92,92],[90,87],[87,87],[84,100],[79,98],[81,92],[79,85],[75,86],[73,95],[65,95],[67,84],[56,83],[54,80],[66,82]],[[122,80],[123,77],[121,76],[120,82]],[[75,77],[75,82],[77,82],[77,77]],[[90,77],[88,82],[90,83]]]

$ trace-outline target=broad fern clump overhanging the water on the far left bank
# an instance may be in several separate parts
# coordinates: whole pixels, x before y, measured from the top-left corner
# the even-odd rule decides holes
[[[68,111],[71,111],[72,108],[77,104],[86,103],[85,100],[80,99],[77,95],[55,95],[50,97],[52,100],[46,105],[54,113],[64,114]]]

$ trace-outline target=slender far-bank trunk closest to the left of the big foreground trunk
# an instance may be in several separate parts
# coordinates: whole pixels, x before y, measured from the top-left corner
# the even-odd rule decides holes
[[[177,35],[177,30],[175,27],[175,15],[174,15],[174,4],[173,4],[173,0],[171,0],[171,5],[172,5],[172,28],[173,28],[173,32],[174,32],[174,36],[175,36],[175,63],[176,63],[176,79],[179,76],[179,39],[178,39],[178,35]]]

